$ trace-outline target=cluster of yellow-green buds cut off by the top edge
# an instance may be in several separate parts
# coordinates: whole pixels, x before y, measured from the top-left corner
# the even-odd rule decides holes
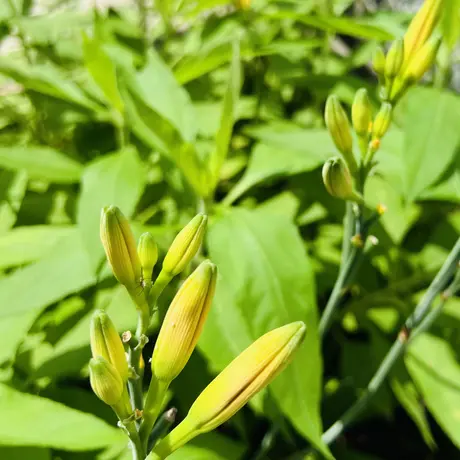
[[[394,104],[433,65],[441,40],[433,37],[442,0],[426,0],[403,38],[395,40],[385,56],[377,48],[372,65],[380,80],[380,98]]]

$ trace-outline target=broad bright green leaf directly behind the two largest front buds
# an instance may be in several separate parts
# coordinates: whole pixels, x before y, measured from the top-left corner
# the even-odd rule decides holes
[[[328,456],[319,417],[314,275],[296,227],[279,214],[235,208],[216,218],[207,241],[219,278],[201,349],[213,368],[220,368],[223,358],[235,357],[271,329],[305,321],[305,343],[271,389],[296,429]]]

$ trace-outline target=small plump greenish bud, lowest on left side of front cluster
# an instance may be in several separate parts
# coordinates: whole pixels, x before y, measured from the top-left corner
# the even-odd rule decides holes
[[[91,388],[100,400],[109,406],[120,401],[124,390],[123,381],[115,367],[102,356],[91,358],[89,378]]]

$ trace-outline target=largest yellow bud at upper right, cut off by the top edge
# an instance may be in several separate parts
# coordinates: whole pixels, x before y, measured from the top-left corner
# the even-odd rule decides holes
[[[425,0],[404,35],[404,69],[433,33],[441,16],[443,0]]]

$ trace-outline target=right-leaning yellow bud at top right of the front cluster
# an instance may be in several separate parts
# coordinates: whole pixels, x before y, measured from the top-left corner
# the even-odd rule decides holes
[[[197,214],[176,236],[163,261],[163,270],[178,275],[193,259],[203,241],[208,217]]]

